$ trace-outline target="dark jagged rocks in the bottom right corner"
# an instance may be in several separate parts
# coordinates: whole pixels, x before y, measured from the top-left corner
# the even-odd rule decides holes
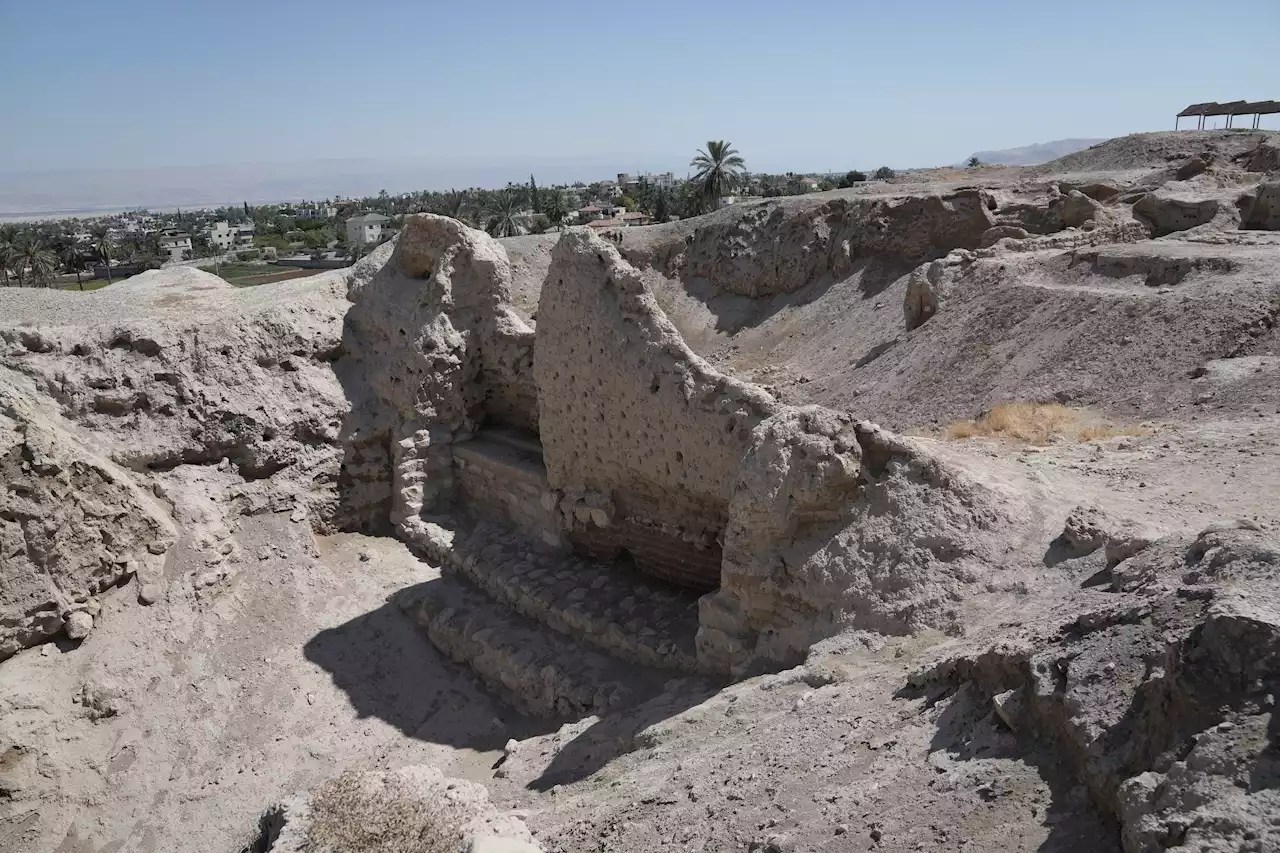
[[[1272,849],[1276,557],[1236,525],[1158,543],[1129,561],[1148,570],[1138,593],[916,680],[969,681],[1015,731],[1055,743],[1125,850]]]

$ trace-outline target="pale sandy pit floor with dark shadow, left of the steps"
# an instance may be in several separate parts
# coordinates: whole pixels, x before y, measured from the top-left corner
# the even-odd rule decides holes
[[[184,537],[160,602],[129,584],[78,646],[5,661],[0,849],[234,852],[269,803],[344,770],[486,779],[520,719],[387,601],[438,573],[394,539],[288,519],[236,521],[244,560],[198,593]]]

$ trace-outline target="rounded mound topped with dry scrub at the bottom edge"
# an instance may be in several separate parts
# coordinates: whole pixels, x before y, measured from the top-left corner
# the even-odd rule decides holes
[[[539,853],[518,817],[483,785],[435,767],[348,771],[268,809],[265,853]]]

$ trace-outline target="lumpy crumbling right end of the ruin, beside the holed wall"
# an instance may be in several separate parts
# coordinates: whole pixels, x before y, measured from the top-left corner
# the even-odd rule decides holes
[[[756,428],[740,470],[699,661],[740,675],[799,662],[846,628],[954,630],[959,590],[998,564],[1005,524],[991,496],[911,442],[786,409]]]

